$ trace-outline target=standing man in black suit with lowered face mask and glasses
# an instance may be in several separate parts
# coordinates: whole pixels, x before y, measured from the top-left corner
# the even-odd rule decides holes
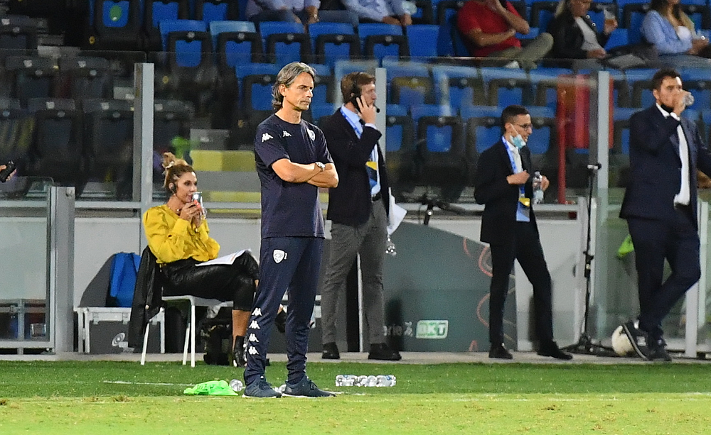
[[[530,150],[526,146],[533,132],[528,110],[508,106],[501,113],[501,140],[479,157],[474,180],[474,197],[483,204],[481,241],[491,248],[491,289],[489,299],[489,358],[511,359],[503,344],[503,308],[508,277],[518,259],[533,285],[535,331],[538,355],[570,360],[553,341],[551,280],[543,258],[532,201]],[[549,182],[542,177],[541,187]]]

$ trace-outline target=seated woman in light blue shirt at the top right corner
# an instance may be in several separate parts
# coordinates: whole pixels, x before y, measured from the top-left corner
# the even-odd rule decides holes
[[[698,35],[681,10],[680,0],[652,0],[642,22],[642,37],[654,45],[661,62],[669,65],[708,65],[709,41]]]

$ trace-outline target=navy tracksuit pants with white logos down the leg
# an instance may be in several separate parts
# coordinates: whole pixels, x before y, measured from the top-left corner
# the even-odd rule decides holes
[[[287,291],[287,382],[296,384],[306,374],[309,321],[314,312],[323,249],[323,238],[262,239],[260,284],[250,322],[247,324],[246,385],[264,375],[269,336],[279,311],[279,303]]]

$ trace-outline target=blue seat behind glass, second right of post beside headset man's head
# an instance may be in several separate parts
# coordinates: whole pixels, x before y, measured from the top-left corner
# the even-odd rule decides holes
[[[439,99],[454,109],[486,104],[479,70],[472,67],[432,67]]]

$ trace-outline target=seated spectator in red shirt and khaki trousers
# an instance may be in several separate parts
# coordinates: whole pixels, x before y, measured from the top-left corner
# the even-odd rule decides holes
[[[525,48],[515,34],[528,34],[528,23],[508,0],[469,0],[459,9],[456,25],[474,57],[500,57],[501,65],[530,69],[553,45],[549,33],[541,33]]]

